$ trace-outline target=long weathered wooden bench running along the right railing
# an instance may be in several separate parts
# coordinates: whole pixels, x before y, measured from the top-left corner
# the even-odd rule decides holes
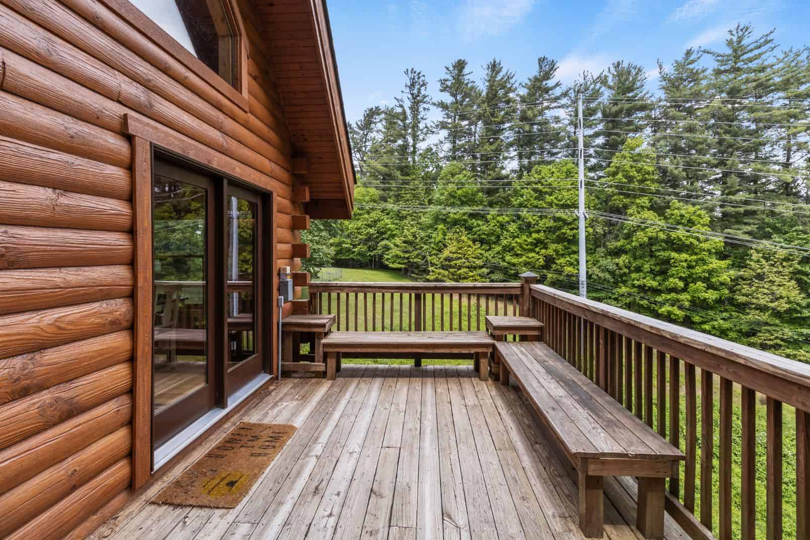
[[[603,477],[638,478],[637,528],[663,538],[664,484],[684,454],[541,342],[497,342],[512,376],[578,470],[579,526],[603,536]]]

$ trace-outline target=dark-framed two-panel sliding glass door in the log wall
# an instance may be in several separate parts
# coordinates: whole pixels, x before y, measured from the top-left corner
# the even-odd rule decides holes
[[[152,442],[158,447],[269,365],[262,261],[267,196],[155,159],[152,182]],[[262,277],[266,276],[266,285]],[[263,333],[265,336],[268,332]]]

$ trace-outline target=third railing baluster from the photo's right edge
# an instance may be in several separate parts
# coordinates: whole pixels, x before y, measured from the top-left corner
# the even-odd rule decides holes
[[[757,534],[757,393],[745,386],[742,387],[742,392],[743,461],[740,467],[742,469],[740,485],[742,535],[740,538],[754,540]]]

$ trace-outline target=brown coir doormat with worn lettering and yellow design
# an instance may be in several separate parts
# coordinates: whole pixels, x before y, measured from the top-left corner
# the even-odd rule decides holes
[[[240,422],[152,502],[236,508],[295,432],[287,424]]]

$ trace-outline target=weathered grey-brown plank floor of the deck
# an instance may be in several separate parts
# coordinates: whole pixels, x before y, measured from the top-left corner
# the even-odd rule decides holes
[[[233,510],[149,500],[239,419],[299,429]],[[514,386],[471,366],[345,365],[288,379],[91,538],[582,538],[577,488]],[[605,537],[642,538],[634,485],[608,479]],[[667,516],[667,539],[686,535]]]

